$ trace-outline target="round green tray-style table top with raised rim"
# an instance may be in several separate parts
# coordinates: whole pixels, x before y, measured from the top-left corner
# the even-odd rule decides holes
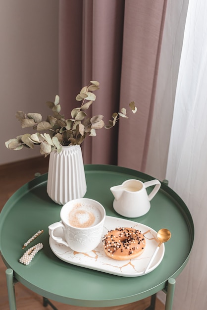
[[[99,201],[106,215],[120,217],[112,207],[110,187],[127,179],[143,182],[153,177],[136,170],[113,165],[85,165],[87,193],[85,197]],[[149,274],[121,277],[76,266],[57,258],[49,246],[48,226],[60,220],[62,206],[47,194],[47,174],[21,187],[7,201],[0,213],[0,252],[15,278],[34,292],[52,300],[80,307],[110,307],[149,297],[166,286],[169,278],[185,267],[193,245],[194,225],[181,198],[161,182],[151,201],[150,211],[131,220],[150,226],[155,231],[168,228],[171,239],[165,244],[161,263]],[[129,219],[129,218],[128,218]],[[42,242],[41,250],[25,266],[18,260],[23,244],[38,230],[44,233],[31,246]]]

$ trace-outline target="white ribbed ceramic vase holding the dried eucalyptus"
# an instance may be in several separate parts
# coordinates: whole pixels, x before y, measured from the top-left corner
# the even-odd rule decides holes
[[[82,198],[86,194],[86,177],[79,145],[63,147],[50,154],[47,192],[57,204]]]

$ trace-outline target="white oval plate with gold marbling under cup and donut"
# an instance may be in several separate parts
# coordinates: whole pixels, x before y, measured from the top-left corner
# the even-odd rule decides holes
[[[109,258],[104,253],[102,241],[95,250],[88,253],[74,252],[69,247],[57,243],[51,237],[49,239],[50,247],[56,257],[73,265],[124,277],[137,277],[144,275],[148,262],[158,246],[156,231],[141,223],[106,215],[103,237],[109,230],[115,229],[116,227],[132,227],[140,230],[145,235],[146,247],[139,257],[128,260]],[[55,229],[54,235],[62,237],[62,229]],[[147,273],[152,272],[160,264],[163,256],[164,244],[162,243]]]

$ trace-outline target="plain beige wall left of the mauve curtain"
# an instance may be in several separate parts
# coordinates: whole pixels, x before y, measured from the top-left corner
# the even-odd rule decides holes
[[[0,0],[0,164],[40,155],[8,150],[4,142],[26,133],[17,110],[47,117],[58,94],[58,0]]]

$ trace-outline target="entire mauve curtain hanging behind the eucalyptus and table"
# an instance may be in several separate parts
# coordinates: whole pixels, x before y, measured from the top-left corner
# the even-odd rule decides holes
[[[166,0],[59,1],[59,96],[69,117],[80,89],[100,82],[89,116],[135,101],[138,113],[82,144],[84,163],[144,171],[154,110]]]

